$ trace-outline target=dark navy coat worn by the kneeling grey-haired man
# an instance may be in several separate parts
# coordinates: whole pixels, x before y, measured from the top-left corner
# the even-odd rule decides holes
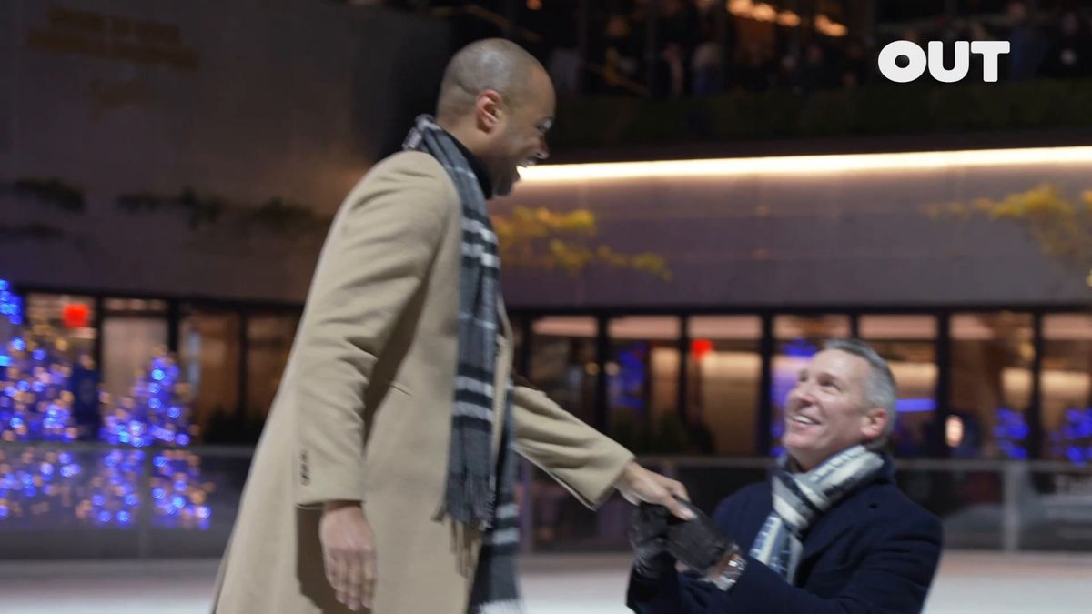
[[[770,483],[740,489],[713,520],[746,553],[773,506]],[[891,461],[816,519],[795,586],[747,557],[728,591],[691,574],[652,580],[633,572],[627,604],[640,614],[918,614],[940,559],[940,521],[906,498]]]

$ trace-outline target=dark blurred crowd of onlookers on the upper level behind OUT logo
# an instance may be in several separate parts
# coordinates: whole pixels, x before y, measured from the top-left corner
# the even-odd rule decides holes
[[[1014,1],[1001,15],[940,16],[931,27],[878,33],[868,39],[853,32],[841,37],[800,36],[804,33],[797,28],[775,24],[769,24],[765,32],[753,27],[747,32],[747,24],[732,19],[717,36],[712,11],[698,10],[695,0],[667,0],[655,20],[655,54],[651,56],[641,10],[639,5],[633,13],[607,14],[601,28],[593,26],[593,33],[601,29],[602,34],[591,38],[594,43],[589,45],[583,80],[571,72],[578,66],[571,60],[571,49],[551,50],[555,81],[572,84],[566,94],[663,98],[857,87],[882,80],[876,57],[895,39],[913,40],[923,48],[929,40],[941,40],[949,66],[956,40],[1008,40],[1004,80],[1092,76],[1092,19],[1077,9],[1033,15],[1024,2]],[[981,60],[981,56],[973,58]],[[971,74],[981,74],[981,68],[972,64]]]

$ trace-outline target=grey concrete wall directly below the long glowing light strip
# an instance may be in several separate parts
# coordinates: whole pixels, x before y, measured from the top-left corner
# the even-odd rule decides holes
[[[656,251],[670,282],[593,265],[579,278],[509,271],[512,306],[1071,304],[1084,274],[1011,222],[938,222],[929,204],[1049,182],[1076,199],[1092,165],[831,175],[531,182],[498,205],[586,208],[596,240]]]

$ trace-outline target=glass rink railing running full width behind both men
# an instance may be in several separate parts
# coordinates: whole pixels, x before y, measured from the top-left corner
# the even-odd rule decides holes
[[[253,449],[0,444],[0,558],[216,557]],[[762,458],[645,457],[711,511],[767,479]],[[1049,461],[899,460],[897,480],[943,521],[949,548],[1092,552],[1092,468]],[[631,507],[581,506],[525,465],[525,551],[621,552]],[[4,511],[5,510],[5,511]]]

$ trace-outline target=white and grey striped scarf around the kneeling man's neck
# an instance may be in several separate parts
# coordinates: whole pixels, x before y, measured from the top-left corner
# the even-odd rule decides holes
[[[750,555],[792,585],[808,527],[856,485],[879,473],[883,457],[864,446],[854,446],[807,473],[792,473],[788,463],[786,454],[778,460],[773,472],[773,511],[755,538]]]

